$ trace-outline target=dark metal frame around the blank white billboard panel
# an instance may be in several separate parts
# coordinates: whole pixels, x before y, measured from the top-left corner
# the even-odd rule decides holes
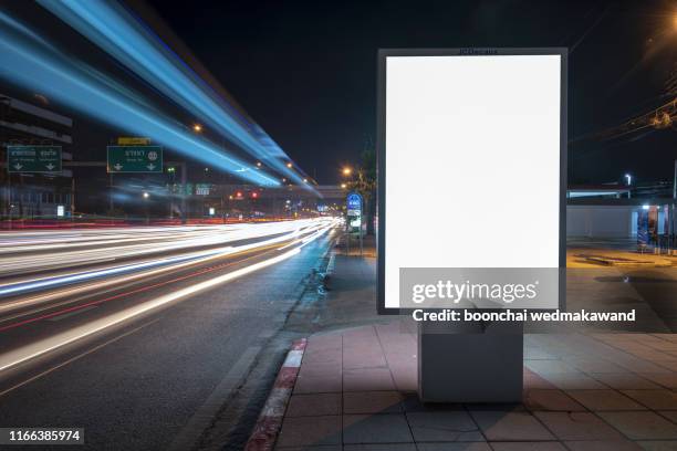
[[[566,296],[566,186],[569,130],[569,48],[456,48],[456,49],[379,49],[376,75],[376,168],[377,168],[377,269],[376,301],[379,315],[410,314],[412,308],[385,306],[385,235],[386,235],[386,61],[388,56],[489,56],[489,55],[559,55],[560,60],[560,285],[559,308],[565,308]],[[552,308],[550,308],[552,310]]]

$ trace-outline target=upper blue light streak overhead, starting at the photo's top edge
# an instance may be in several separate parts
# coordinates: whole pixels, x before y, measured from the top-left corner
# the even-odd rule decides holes
[[[287,154],[257,124],[218,95],[143,22],[115,1],[38,0],[201,122],[288,179],[314,191],[285,166]]]

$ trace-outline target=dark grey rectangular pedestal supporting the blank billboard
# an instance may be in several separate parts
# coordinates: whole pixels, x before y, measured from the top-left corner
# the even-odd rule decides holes
[[[522,323],[421,322],[418,396],[424,402],[521,402]]]

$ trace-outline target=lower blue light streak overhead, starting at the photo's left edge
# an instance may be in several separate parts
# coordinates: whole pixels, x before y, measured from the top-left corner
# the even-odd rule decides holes
[[[0,54],[2,78],[40,91],[102,122],[148,136],[158,144],[249,182],[267,187],[280,185],[275,177],[196,136],[183,124],[150,106],[138,93],[64,54],[2,12]]]

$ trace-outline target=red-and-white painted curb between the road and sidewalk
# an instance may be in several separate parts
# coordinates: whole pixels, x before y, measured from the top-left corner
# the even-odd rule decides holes
[[[278,373],[273,388],[270,395],[268,395],[268,399],[259,415],[253,431],[247,441],[244,451],[272,451],[278,433],[280,433],[282,428],[287,403],[291,397],[294,384],[296,384],[306,343],[308,339],[301,338],[292,344],[280,368],[280,373]]]

